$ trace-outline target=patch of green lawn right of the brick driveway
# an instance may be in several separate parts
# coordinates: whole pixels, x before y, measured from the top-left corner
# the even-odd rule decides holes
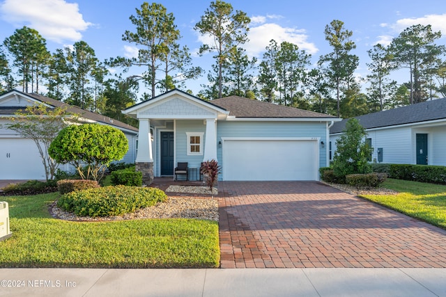
[[[381,186],[399,193],[397,195],[361,195],[361,197],[446,229],[445,185],[387,179]]]

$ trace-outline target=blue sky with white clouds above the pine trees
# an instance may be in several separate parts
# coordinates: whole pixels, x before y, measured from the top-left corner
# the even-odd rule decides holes
[[[84,40],[95,50],[100,61],[116,56],[134,56],[134,45],[122,40],[126,30],[135,31],[130,15],[136,15],[144,1],[134,0],[0,0],[0,42],[13,35],[16,29],[29,26],[47,40],[47,48],[70,46]],[[153,1],[148,1],[152,3]],[[210,6],[210,0],[155,1],[173,13],[180,30],[181,46],[189,47],[194,65],[208,71],[214,63],[213,54],[199,56],[203,36],[194,31],[194,25]],[[355,72],[357,77],[369,73],[367,51],[377,43],[388,45],[409,26],[431,24],[433,31],[443,36],[438,45],[446,45],[445,0],[256,0],[226,1],[235,10],[251,18],[249,42],[244,47],[250,57],[261,59],[270,40],[277,43],[292,42],[312,54],[316,64],[321,55],[332,48],[325,40],[324,29],[332,20],[344,22],[345,29],[353,31],[351,40],[356,49],[351,51],[360,58]],[[136,70],[143,71],[143,70]],[[396,75],[396,74],[395,74]],[[408,72],[399,72],[396,79],[409,81]],[[197,94],[206,84],[206,75],[187,83],[187,88]]]

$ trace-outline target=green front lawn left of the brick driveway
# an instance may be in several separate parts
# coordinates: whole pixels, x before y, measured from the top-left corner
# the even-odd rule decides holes
[[[218,223],[195,219],[70,222],[52,218],[58,193],[3,197],[13,236],[0,242],[0,267],[212,268]]]

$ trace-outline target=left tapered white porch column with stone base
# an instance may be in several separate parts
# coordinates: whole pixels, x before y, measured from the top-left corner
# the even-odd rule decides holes
[[[135,167],[142,172],[143,184],[153,182],[153,156],[151,141],[151,121],[139,119],[138,148]]]

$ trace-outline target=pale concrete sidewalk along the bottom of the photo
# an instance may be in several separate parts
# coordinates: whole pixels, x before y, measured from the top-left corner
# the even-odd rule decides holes
[[[446,269],[3,268],[0,296],[446,296]]]

